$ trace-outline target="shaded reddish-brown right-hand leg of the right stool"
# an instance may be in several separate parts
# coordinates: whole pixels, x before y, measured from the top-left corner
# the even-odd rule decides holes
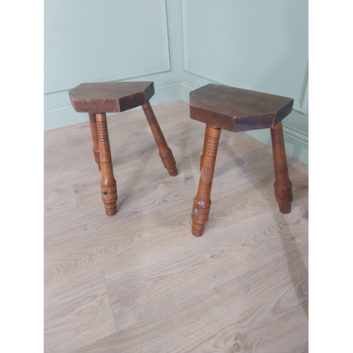
[[[282,121],[271,128],[273,163],[275,164],[275,196],[281,213],[290,213],[292,182],[289,180]]]

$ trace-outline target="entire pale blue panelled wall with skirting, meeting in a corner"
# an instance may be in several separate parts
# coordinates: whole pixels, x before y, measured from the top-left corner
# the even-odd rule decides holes
[[[88,119],[81,82],[153,80],[152,104],[215,82],[294,98],[286,150],[308,163],[308,0],[44,0],[44,66],[46,130]]]

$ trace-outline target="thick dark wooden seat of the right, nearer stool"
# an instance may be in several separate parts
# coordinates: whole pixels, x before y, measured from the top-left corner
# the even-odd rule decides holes
[[[229,131],[271,128],[292,112],[292,98],[208,84],[190,92],[190,117]]]

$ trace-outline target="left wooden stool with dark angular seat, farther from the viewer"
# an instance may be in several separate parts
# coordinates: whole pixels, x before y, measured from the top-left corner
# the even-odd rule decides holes
[[[90,116],[93,154],[102,172],[100,188],[107,215],[116,214],[118,195],[113,174],[106,113],[125,112],[142,106],[164,167],[172,177],[178,174],[172,150],[167,145],[149,102],[154,94],[153,82],[81,83],[68,91],[76,112],[86,112]]]

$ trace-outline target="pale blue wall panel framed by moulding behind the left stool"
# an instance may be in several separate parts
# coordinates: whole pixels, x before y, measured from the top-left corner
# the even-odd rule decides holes
[[[44,2],[44,92],[170,70],[165,1]]]

